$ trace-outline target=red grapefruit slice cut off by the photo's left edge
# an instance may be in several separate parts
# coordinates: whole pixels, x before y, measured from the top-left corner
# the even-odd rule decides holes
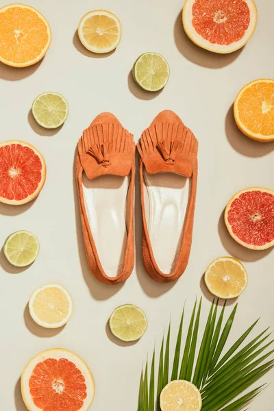
[[[0,201],[19,206],[38,196],[45,184],[46,163],[39,151],[24,141],[0,143]]]

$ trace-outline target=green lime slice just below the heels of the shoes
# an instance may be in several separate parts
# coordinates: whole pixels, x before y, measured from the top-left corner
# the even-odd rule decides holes
[[[125,304],[110,316],[112,334],[123,341],[136,341],[147,329],[147,316],[140,308]]]

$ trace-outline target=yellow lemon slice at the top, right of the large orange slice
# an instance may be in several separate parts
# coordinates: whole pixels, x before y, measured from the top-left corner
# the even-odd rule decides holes
[[[93,53],[109,53],[119,45],[122,27],[115,14],[94,10],[81,18],[78,35],[86,49]]]

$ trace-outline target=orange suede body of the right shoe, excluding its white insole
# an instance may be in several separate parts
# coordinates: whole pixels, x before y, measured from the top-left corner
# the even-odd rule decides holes
[[[150,127],[142,133],[137,149],[140,154],[143,262],[147,273],[155,281],[161,283],[174,282],[186,270],[190,256],[197,190],[198,141],[177,114],[170,110],[164,110],[156,116]],[[171,273],[162,273],[153,256],[145,215],[144,168],[147,173],[151,174],[177,173],[191,179],[191,191],[184,222],[182,243]]]

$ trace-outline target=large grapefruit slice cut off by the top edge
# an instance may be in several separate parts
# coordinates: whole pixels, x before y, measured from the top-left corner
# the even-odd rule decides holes
[[[243,47],[257,25],[253,0],[186,0],[186,35],[197,46],[214,53],[232,53]]]

